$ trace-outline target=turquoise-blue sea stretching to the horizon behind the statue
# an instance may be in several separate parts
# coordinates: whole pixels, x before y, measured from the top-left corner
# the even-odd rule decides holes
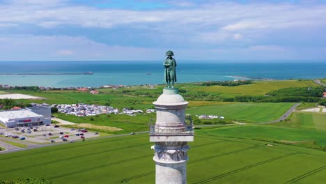
[[[177,61],[179,83],[256,77],[326,78],[325,61]],[[163,61],[24,61],[0,62],[0,74],[84,73],[93,75],[0,75],[10,86],[98,87],[107,84],[163,84]]]

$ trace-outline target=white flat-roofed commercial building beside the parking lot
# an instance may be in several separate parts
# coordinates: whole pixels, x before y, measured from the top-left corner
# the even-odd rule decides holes
[[[6,125],[7,128],[43,125],[45,124],[44,119],[45,116],[26,109],[0,112],[0,123]]]

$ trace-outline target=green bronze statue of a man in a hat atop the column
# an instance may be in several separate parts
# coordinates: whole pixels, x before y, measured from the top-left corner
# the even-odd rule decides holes
[[[176,60],[172,58],[174,56],[171,50],[168,50],[165,54],[164,66],[164,79],[168,88],[173,88],[174,82],[176,82]]]

